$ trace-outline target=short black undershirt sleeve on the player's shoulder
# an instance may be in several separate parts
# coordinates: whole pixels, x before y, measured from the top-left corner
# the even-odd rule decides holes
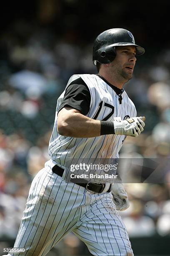
[[[65,95],[58,112],[65,106],[70,106],[71,108],[80,110],[82,115],[87,115],[90,110],[90,100],[89,88],[80,77],[71,82],[65,90]]]

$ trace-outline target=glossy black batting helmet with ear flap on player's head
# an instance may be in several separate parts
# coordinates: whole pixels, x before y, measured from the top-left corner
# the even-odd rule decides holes
[[[134,45],[136,47],[136,55],[142,55],[145,49],[135,44],[133,34],[124,28],[111,28],[102,32],[95,39],[92,61],[96,66],[96,61],[107,64],[115,59],[115,46]]]

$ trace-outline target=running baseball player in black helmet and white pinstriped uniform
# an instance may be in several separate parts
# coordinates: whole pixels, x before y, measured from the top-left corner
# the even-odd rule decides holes
[[[49,143],[50,161],[32,181],[12,255],[45,256],[72,231],[92,255],[133,256],[117,210],[129,206],[121,182],[66,182],[67,159],[118,159],[126,136],[145,126],[123,85],[132,78],[136,55],[145,50],[130,31],[113,28],[95,39],[98,74],[73,75],[57,100]]]

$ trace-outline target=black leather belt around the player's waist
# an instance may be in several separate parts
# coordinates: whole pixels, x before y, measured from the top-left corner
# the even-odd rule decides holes
[[[52,167],[52,172],[54,172],[55,174],[62,177],[64,170],[62,168],[60,168],[59,166],[55,165]],[[74,181],[74,179],[72,179],[72,182],[73,181]],[[85,179],[83,181],[85,181]],[[75,182],[73,182],[73,183],[75,183]],[[77,183],[76,182],[75,184],[85,187],[88,191],[91,191],[91,192],[102,193],[103,190],[105,189],[105,184],[97,184],[97,183],[93,183],[93,182],[87,183],[87,181],[85,181],[85,183]],[[112,190],[112,184],[110,184],[110,187],[106,192],[110,192],[111,190]]]

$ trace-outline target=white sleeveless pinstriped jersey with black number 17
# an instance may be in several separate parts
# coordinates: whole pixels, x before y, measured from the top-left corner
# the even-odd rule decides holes
[[[90,95],[90,110],[87,117],[96,120],[114,121],[114,117],[121,119],[136,116],[135,105],[125,91],[122,93],[122,104],[116,92],[95,74],[76,74],[70,77],[66,88],[75,79],[81,77],[87,84]],[[65,89],[66,89],[65,88]],[[65,91],[57,100],[55,123],[49,143],[49,155],[51,160],[45,166],[65,166],[66,158],[76,159],[100,159],[100,158],[119,158],[119,151],[125,136],[121,135],[102,135],[94,138],[72,138],[61,136],[57,133],[57,113],[65,95]]]

